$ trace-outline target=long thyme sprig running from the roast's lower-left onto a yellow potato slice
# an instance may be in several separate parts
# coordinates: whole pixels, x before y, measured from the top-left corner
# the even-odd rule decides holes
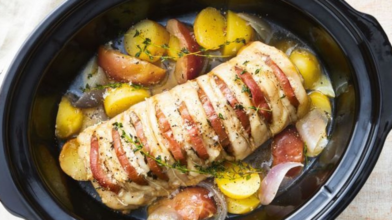
[[[252,168],[249,164],[245,164],[242,161],[213,161],[210,166],[208,167],[202,167],[196,165],[195,168],[196,170],[193,169],[188,169],[185,165],[181,164],[180,161],[176,161],[172,164],[169,164],[166,158],[162,158],[161,155],[158,155],[157,157],[152,156],[149,152],[146,152],[143,149],[143,144],[142,142],[138,139],[138,137],[133,136],[131,134],[127,134],[123,130],[123,125],[122,123],[115,122],[112,124],[114,126],[115,130],[118,130],[121,132],[121,138],[127,142],[131,143],[134,145],[134,152],[140,152],[144,157],[149,157],[153,159],[158,165],[167,167],[170,169],[175,169],[180,171],[181,173],[189,173],[189,172],[194,172],[194,173],[199,173],[199,174],[204,174],[204,175],[210,175],[212,177],[218,178],[218,179],[239,179],[239,178],[245,178],[246,180],[250,179],[250,175],[254,173],[264,173],[265,171],[262,169],[256,169]],[[225,163],[231,164],[229,168],[225,166]]]

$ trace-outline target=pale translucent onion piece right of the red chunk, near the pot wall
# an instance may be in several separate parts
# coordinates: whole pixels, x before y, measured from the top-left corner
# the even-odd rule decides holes
[[[297,121],[296,128],[307,148],[307,156],[315,157],[327,146],[327,124],[327,115],[318,108]]]

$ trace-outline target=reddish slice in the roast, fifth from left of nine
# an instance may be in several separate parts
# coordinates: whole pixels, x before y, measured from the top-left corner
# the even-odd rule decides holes
[[[187,126],[186,130],[188,131],[189,137],[191,139],[191,144],[193,150],[196,151],[196,154],[203,160],[207,160],[210,156],[205,149],[203,138],[200,136],[199,129],[194,123],[191,115],[188,112],[187,106],[184,102],[180,103],[179,106],[180,115],[184,121],[185,126]]]

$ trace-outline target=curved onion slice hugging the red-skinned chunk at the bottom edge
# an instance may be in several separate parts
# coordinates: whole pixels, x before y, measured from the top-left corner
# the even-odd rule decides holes
[[[212,197],[216,202],[216,214],[209,218],[209,220],[221,220],[226,219],[227,216],[227,204],[225,196],[221,193],[217,186],[213,182],[203,181],[198,186],[208,189],[212,193]]]

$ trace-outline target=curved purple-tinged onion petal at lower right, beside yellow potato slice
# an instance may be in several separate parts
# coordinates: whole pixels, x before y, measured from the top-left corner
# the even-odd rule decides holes
[[[272,200],[274,200],[286,173],[297,166],[303,166],[303,164],[297,162],[285,162],[277,164],[271,168],[260,184],[259,199],[262,205],[268,205],[272,202]]]

